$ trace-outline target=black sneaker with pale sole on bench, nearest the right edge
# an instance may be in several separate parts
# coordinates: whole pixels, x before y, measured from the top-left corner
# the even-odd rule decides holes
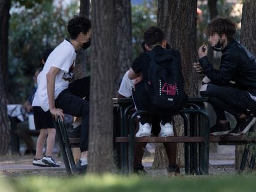
[[[233,131],[229,133],[229,135],[241,135],[245,134],[250,130],[252,125],[256,122],[256,118],[252,115],[246,115],[245,118],[237,119],[236,127]]]

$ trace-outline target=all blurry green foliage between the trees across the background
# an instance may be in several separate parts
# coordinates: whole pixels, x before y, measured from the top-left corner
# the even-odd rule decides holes
[[[232,14],[236,3],[242,0],[219,0],[217,9],[222,17],[231,17],[237,23],[241,13]],[[61,3],[62,1],[55,1]],[[19,102],[27,99],[33,86],[32,76],[41,65],[41,54],[46,48],[54,48],[64,38],[69,38],[66,31],[68,20],[79,14],[78,1],[68,6],[55,3],[53,0],[15,0],[12,1],[9,26],[9,87]],[[142,50],[143,33],[147,28],[157,24],[158,1],[144,0],[142,4],[132,5],[132,56],[139,56]],[[206,0],[198,0],[202,10],[202,20],[197,26],[197,45],[207,43],[203,30],[210,20]],[[236,38],[239,38],[237,31]],[[17,102],[16,101],[16,102]]]

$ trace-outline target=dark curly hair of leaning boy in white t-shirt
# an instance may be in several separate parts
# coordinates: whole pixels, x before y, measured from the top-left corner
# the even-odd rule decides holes
[[[69,31],[70,38],[75,40],[79,33],[88,33],[91,28],[91,21],[82,16],[75,15],[74,18],[67,23],[67,31]]]

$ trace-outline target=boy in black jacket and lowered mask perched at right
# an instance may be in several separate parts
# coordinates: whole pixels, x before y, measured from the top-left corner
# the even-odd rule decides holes
[[[205,45],[198,49],[199,61],[194,63],[198,73],[207,75],[200,94],[209,98],[217,117],[216,124],[210,128],[211,135],[241,135],[256,122],[256,59],[234,39],[235,33],[233,20],[212,19],[207,26],[207,36],[211,48],[222,52],[220,69],[213,69]],[[236,118],[232,131],[224,111]]]

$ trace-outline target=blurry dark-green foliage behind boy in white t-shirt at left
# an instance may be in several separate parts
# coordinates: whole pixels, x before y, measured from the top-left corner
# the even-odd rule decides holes
[[[66,25],[78,14],[77,1],[67,7],[53,1],[15,1],[9,20],[9,88],[15,102],[27,99],[35,69],[43,67],[41,54],[69,38]]]

